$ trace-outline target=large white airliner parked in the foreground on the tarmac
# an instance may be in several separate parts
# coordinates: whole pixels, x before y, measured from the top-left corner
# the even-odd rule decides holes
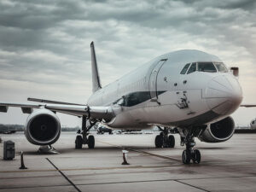
[[[0,111],[19,107],[30,113],[25,135],[35,145],[51,145],[61,134],[61,122],[55,113],[82,118],[82,131],[75,148],[95,147],[90,128],[101,122],[111,129],[143,130],[161,127],[154,140],[156,148],[173,148],[174,129],[181,137],[183,164],[199,164],[201,153],[195,137],[202,142],[220,143],[234,134],[235,123],[230,114],[242,101],[241,86],[236,76],[217,56],[200,50],[183,49],[160,55],[131,73],[102,87],[96,62],[94,43],[90,44],[92,92],[87,104],[55,102],[0,102]],[[235,68],[236,69],[236,68]],[[235,72],[237,72],[235,70]],[[38,110],[33,110],[38,109]]]

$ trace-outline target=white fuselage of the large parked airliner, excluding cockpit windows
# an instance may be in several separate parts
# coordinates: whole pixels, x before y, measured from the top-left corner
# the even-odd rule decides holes
[[[198,50],[161,55],[97,90],[88,105],[110,106],[115,117],[105,124],[117,129],[206,125],[233,113],[242,99],[236,77],[218,70],[181,74],[193,62],[222,61]]]

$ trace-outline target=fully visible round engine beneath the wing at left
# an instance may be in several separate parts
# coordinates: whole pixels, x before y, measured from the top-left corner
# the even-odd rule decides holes
[[[48,109],[35,111],[26,120],[26,139],[35,145],[55,143],[61,135],[61,123],[55,113]]]

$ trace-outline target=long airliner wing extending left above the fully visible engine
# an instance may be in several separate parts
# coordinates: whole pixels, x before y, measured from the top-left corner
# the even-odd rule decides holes
[[[46,108],[53,112],[67,113],[74,116],[87,116],[92,119],[110,120],[114,117],[111,107],[94,107],[88,105],[72,105],[72,104],[30,104],[30,103],[9,103],[0,102],[0,112],[7,113],[9,107],[21,108],[23,113],[32,113],[34,108]]]

